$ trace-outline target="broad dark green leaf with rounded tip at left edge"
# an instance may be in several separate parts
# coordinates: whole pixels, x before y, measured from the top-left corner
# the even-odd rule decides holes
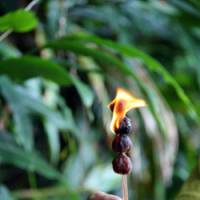
[[[0,61],[0,74],[6,74],[15,80],[32,77],[44,77],[61,85],[71,83],[68,72],[53,61],[36,56],[23,56]]]

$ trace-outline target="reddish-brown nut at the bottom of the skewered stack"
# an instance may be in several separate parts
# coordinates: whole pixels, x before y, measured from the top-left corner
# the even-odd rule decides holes
[[[113,170],[118,174],[129,174],[132,170],[130,158],[125,154],[119,154],[113,161]]]

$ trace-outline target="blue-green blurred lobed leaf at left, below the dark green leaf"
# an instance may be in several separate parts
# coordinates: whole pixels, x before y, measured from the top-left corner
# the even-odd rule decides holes
[[[63,108],[63,113],[59,113],[48,106],[46,106],[41,99],[32,96],[23,87],[15,86],[7,77],[0,77],[0,92],[7,100],[12,112],[14,113],[14,120],[16,123],[16,140],[22,144],[26,149],[33,148],[33,130],[30,114],[40,114],[45,123],[53,124],[54,128],[58,130],[71,130],[76,132],[73,117],[70,109],[59,100],[59,104]],[[50,131],[48,129],[48,131]],[[51,136],[51,133],[48,132]],[[53,138],[49,138],[53,142]],[[56,141],[54,141],[56,142]],[[52,147],[52,143],[50,147]],[[53,148],[53,147],[52,147]],[[56,147],[54,147],[56,148]]]

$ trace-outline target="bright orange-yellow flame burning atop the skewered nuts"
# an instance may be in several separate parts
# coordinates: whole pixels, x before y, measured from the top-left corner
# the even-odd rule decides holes
[[[132,108],[140,108],[146,106],[142,99],[138,99],[123,88],[117,88],[116,96],[108,108],[113,112],[111,121],[111,130],[114,132],[119,128],[120,122],[124,119],[126,113]]]

